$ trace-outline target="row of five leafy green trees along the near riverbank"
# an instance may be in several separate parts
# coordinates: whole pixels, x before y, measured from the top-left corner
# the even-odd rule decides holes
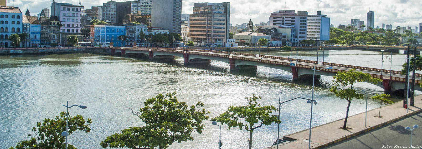
[[[363,95],[357,93],[353,88],[357,82],[380,82],[380,79],[373,78],[369,74],[356,72],[354,69],[348,72],[339,72],[334,76],[335,85],[331,92],[335,96],[348,101],[346,107],[346,119],[343,129],[347,129],[346,123],[349,114],[350,104],[353,99],[362,99]],[[381,105],[391,104],[392,101],[386,99],[389,95],[380,94],[372,97],[373,100],[379,100]],[[212,121],[227,125],[227,130],[238,128],[249,132],[249,149],[252,148],[252,135],[256,129],[280,123],[274,112],[278,110],[274,106],[262,106],[258,103],[261,97],[252,95],[245,98],[247,104],[244,106],[229,106],[227,111],[219,116],[211,118]],[[158,94],[153,98],[146,99],[144,106],[138,110],[128,108],[145,125],[130,127],[121,130],[120,133],[112,134],[105,138],[99,145],[103,148],[130,148],[130,149],[165,149],[175,142],[194,141],[192,133],[201,134],[205,129],[203,121],[208,120],[209,111],[204,109],[202,102],[195,105],[187,105],[185,102],[179,102],[176,92],[165,95]],[[277,103],[278,104],[278,103]],[[380,109],[381,112],[381,109]],[[66,114],[61,112],[60,116],[54,119],[46,118],[32,128],[34,134],[28,135],[29,140],[20,141],[15,147],[10,149],[59,149],[65,146],[65,137],[60,134],[66,130]],[[69,134],[76,130],[89,133],[92,123],[91,119],[84,119],[81,115],[69,117]],[[334,129],[334,128],[333,128]],[[335,128],[338,129],[338,128]],[[77,136],[75,136],[77,137]],[[245,139],[246,140],[246,139]],[[69,145],[70,149],[76,149]]]

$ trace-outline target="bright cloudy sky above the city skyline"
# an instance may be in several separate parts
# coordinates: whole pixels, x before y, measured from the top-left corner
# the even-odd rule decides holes
[[[27,8],[34,16],[41,12],[42,8],[51,8],[52,0],[7,0],[7,5],[21,8],[24,13]],[[109,0],[56,0],[60,3],[73,3],[85,6],[99,6]],[[128,1],[128,0],[115,0]],[[322,14],[331,18],[331,24],[350,24],[350,19],[365,21],[366,13],[371,9],[375,13],[374,26],[392,24],[396,26],[410,27],[419,26],[422,23],[422,3],[420,0],[182,0],[182,13],[192,13],[194,3],[230,2],[230,22],[242,24],[252,19],[254,24],[268,21],[268,16],[274,11],[295,10],[308,11],[309,14]]]

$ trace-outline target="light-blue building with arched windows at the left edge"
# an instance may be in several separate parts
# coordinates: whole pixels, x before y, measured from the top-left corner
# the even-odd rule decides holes
[[[9,37],[22,33],[22,11],[19,7],[0,6],[0,46],[9,47]]]

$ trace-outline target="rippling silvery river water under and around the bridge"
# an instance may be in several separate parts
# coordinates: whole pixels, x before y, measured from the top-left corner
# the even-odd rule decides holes
[[[300,59],[316,59],[316,51],[299,51]],[[289,56],[289,51],[263,52]],[[294,56],[295,58],[295,56]],[[322,59],[322,56],[319,57]],[[325,61],[381,68],[381,53],[373,51],[325,51]],[[399,70],[403,54],[393,55],[393,69]],[[385,62],[390,68],[390,61]],[[384,69],[387,69],[384,67]],[[231,105],[245,105],[245,97],[256,94],[260,104],[278,107],[282,100],[310,98],[312,82],[292,83],[289,72],[258,67],[257,72],[229,73],[228,64],[211,61],[210,65],[185,67],[183,59],[175,61],[125,58],[96,54],[52,54],[0,56],[0,148],[15,146],[27,139],[35,123],[53,118],[69,104],[84,104],[88,109],[71,108],[70,114],[92,118],[90,133],[76,132],[69,143],[81,149],[100,148],[100,142],[114,133],[143,123],[127,107],[138,109],[146,98],[158,93],[176,91],[180,101],[192,105],[203,102],[210,117]],[[344,117],[347,101],[336,98],[329,89],[332,77],[322,76],[316,82],[313,125],[321,125]],[[371,94],[383,90],[369,83],[359,83],[357,90]],[[398,99],[395,98],[397,101]],[[379,106],[368,100],[369,109]],[[350,114],[365,111],[364,100],[354,100]],[[291,101],[281,107],[281,136],[309,127],[310,105]],[[169,148],[208,149],[218,146],[218,127],[206,121],[202,134],[194,133],[194,141],[175,143]],[[222,126],[223,148],[247,148],[249,132],[227,130]],[[254,131],[253,148],[271,146],[277,136],[277,125]]]

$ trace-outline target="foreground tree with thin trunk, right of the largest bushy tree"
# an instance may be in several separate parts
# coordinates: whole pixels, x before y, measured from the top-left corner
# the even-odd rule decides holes
[[[252,149],[252,133],[255,129],[260,128],[262,125],[271,125],[273,122],[280,123],[276,115],[271,115],[273,111],[277,111],[274,106],[261,106],[258,104],[257,97],[245,98],[249,104],[247,106],[229,106],[226,112],[220,114],[211,120],[227,124],[227,130],[230,128],[243,128],[249,131],[249,149]],[[246,123],[239,122],[239,119],[243,119]],[[242,120],[242,121],[243,121]],[[259,124],[254,127],[255,124]]]

